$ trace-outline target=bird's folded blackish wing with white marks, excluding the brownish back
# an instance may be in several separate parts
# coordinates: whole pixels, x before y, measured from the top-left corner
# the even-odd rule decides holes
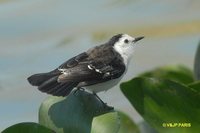
[[[125,65],[120,55],[108,56],[105,54],[98,58],[88,57],[79,62],[72,62],[72,64],[76,64],[73,67],[69,67],[69,62],[59,67],[62,74],[58,77],[58,82],[73,81],[95,84],[118,78],[125,71]]]

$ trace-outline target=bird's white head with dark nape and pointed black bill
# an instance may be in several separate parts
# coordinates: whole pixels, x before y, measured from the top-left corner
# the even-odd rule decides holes
[[[118,34],[113,36],[113,48],[122,56],[124,63],[128,64],[132,54],[134,52],[136,42],[144,37],[131,37],[127,34]]]

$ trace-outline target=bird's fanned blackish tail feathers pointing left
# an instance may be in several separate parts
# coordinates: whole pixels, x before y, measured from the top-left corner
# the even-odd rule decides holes
[[[57,81],[58,73],[40,73],[30,76],[27,80],[33,86],[38,86],[42,92],[55,96],[66,96],[78,84],[76,82],[59,83]]]

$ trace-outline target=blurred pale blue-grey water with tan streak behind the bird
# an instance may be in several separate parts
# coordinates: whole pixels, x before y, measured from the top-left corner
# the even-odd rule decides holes
[[[0,0],[0,131],[38,121],[47,97],[26,81],[118,33],[145,36],[123,80],[167,64],[193,68],[200,40],[199,0]],[[140,123],[119,90],[100,93]]]

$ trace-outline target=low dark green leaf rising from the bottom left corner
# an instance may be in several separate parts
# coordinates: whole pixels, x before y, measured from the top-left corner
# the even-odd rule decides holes
[[[54,131],[33,122],[15,124],[2,133],[55,133]]]

